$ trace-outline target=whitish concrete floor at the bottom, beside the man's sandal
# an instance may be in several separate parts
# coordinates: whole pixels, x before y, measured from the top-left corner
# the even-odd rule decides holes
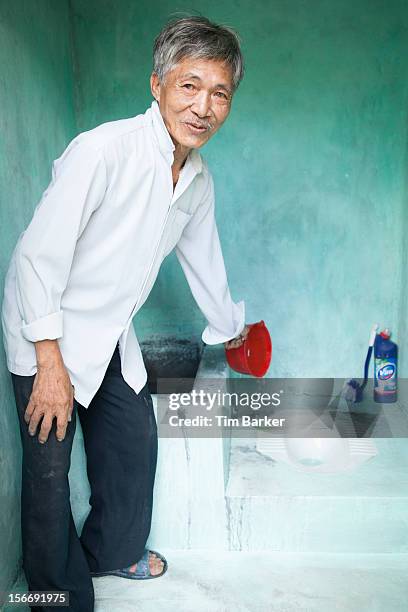
[[[94,578],[95,612],[407,610],[408,554],[160,552],[169,563],[161,578]]]

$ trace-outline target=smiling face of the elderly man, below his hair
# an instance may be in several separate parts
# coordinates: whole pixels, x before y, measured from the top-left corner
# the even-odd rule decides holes
[[[231,109],[231,69],[218,60],[185,58],[166,74],[164,83],[153,73],[150,84],[176,146],[202,147]]]

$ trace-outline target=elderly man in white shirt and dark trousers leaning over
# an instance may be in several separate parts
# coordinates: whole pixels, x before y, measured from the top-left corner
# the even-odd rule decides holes
[[[176,247],[205,343],[239,346],[248,331],[198,153],[242,75],[231,29],[170,22],[155,41],[151,107],[74,138],[12,256],[2,323],[24,451],[23,567],[30,590],[69,591],[70,610],[93,610],[92,576],[167,568],[145,549],[157,429],[132,325],[164,257]],[[80,538],[67,478],[76,413],[91,487]]]

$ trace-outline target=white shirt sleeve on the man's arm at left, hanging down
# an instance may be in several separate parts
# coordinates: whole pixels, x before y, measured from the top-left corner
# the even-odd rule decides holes
[[[103,153],[72,141],[54,161],[51,183],[16,251],[17,299],[26,340],[63,336],[61,297],[75,247],[105,191]]]

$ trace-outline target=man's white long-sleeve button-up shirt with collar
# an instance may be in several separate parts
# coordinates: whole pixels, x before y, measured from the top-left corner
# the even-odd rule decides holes
[[[88,407],[119,341],[122,374],[138,393],[147,374],[132,319],[176,247],[217,344],[245,325],[230,295],[214,218],[214,185],[191,150],[173,193],[174,144],[154,101],[144,114],[79,134],[22,232],[6,275],[7,367],[37,371],[35,342],[58,339],[75,399]]]

